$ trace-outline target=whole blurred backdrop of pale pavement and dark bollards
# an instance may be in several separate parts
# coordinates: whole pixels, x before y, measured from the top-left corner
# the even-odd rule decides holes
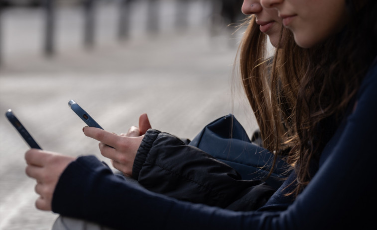
[[[117,134],[142,113],[188,139],[229,113],[249,136],[257,128],[234,67],[242,0],[0,2],[0,112],[12,109],[44,150],[110,163],[71,99]],[[34,207],[27,149],[1,115],[1,230],[48,230],[56,218]]]

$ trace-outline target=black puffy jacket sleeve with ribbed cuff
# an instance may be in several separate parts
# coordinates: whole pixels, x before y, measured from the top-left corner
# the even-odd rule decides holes
[[[150,191],[232,210],[256,210],[275,191],[260,180],[242,180],[222,161],[152,129],[140,145],[132,174]]]

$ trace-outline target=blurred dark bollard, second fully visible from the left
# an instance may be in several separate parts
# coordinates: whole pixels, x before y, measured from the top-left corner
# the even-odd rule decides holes
[[[83,0],[84,6],[84,46],[91,49],[94,45],[95,36],[95,8],[96,0]]]

